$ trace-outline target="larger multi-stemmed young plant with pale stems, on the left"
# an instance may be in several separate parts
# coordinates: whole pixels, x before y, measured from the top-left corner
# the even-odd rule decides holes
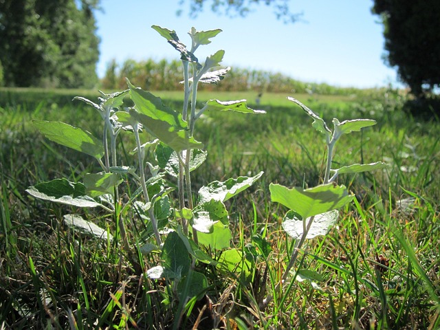
[[[42,182],[31,186],[27,192],[39,199],[69,206],[102,208],[113,217],[116,228],[113,235],[107,235],[106,229],[78,214],[65,214],[64,221],[89,234],[113,240],[115,244],[121,241],[122,252],[126,254],[131,254],[133,249],[126,225],[131,221],[142,221],[144,232],[135,243],[142,254],[159,253],[159,265],[151,267],[146,276],[168,281],[169,289],[164,290],[163,301],[177,311],[174,321],[177,328],[188,301],[195,301],[194,297],[202,296],[208,289],[208,279],[195,270],[196,265],[204,263],[219,272],[238,270],[250,274],[252,265],[249,262],[236,265],[243,257],[241,251],[230,248],[232,234],[224,202],[252,186],[263,174],[213,181],[202,186],[195,197],[191,172],[207,157],[203,144],[194,137],[196,122],[207,110],[250,114],[265,111],[250,109],[245,100],[208,100],[197,109],[199,83],[217,84],[229,70],[219,68],[225,53],[223,50],[208,56],[204,63],[195,56],[198,47],[211,43],[210,39],[221,30],[197,31],[192,28],[188,32],[191,39],[188,50],[175,31],[157,25],[152,28],[180,54],[184,67],[183,109],[176,111],[167,107],[160,98],[133,86],[128,79],[128,89],[114,94],[101,92],[99,103],[76,97],[100,114],[102,137],[64,122],[34,121],[34,125],[47,139],[94,157],[100,172],[88,173],[83,182],[71,182],[65,178]],[[122,132],[133,134],[135,146],[131,155],[137,166],[123,166],[118,159],[117,139]],[[154,148],[155,164],[146,162],[147,148]],[[122,188],[122,182],[129,177],[137,186],[132,194],[126,192],[128,188]],[[176,184],[170,184],[166,177],[175,178]],[[170,197],[170,192],[175,189],[173,186],[177,186],[176,202]],[[121,197],[122,191],[124,196],[129,196],[128,199]],[[137,217],[129,219],[129,214]],[[217,260],[213,258],[215,251],[223,251]]]

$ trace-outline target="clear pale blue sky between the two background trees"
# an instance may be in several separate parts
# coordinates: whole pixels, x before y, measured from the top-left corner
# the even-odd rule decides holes
[[[380,87],[396,84],[396,70],[382,60],[384,37],[379,18],[371,14],[372,0],[292,0],[300,21],[277,21],[271,7],[258,5],[247,17],[232,19],[206,8],[197,19],[188,17],[188,3],[179,0],[102,0],[96,13],[100,43],[98,75],[115,58],[177,59],[179,54],[151,25],[175,30],[186,45],[186,32],[221,29],[212,43],[200,47],[203,58],[225,50],[222,65],[282,72],[311,83],[340,87]],[[206,6],[208,7],[208,6]],[[176,11],[183,13],[177,17]]]

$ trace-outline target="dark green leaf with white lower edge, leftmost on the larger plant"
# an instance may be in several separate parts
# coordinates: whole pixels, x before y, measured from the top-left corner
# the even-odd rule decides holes
[[[81,183],[67,181],[67,179],[54,179],[48,182],[41,182],[26,189],[30,195],[80,208],[94,208],[102,206],[94,199],[86,195],[85,186]]]

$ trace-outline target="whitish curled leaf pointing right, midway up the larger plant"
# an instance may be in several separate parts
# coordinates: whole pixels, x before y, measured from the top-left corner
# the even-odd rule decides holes
[[[199,190],[199,204],[209,202],[211,199],[215,201],[227,201],[239,192],[248,189],[256,180],[258,180],[264,172],[260,172],[254,177],[237,177],[236,179],[228,179],[224,182],[213,181],[208,186],[203,186]]]

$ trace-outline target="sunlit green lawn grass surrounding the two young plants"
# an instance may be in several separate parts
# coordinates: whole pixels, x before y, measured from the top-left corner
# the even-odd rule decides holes
[[[268,186],[318,184],[322,136],[284,95],[263,95],[265,115],[206,113],[197,122],[196,137],[205,144],[208,161],[195,171],[194,191],[216,179],[264,170],[256,186],[228,208],[235,248],[250,253],[263,240],[270,249],[254,260],[250,283],[239,281],[239,274],[197,265],[210,287],[184,306],[166,281],[145,276],[158,256],[140,254],[134,218],[125,219],[132,249],[127,252],[117,241],[93,239],[61,221],[63,214],[79,213],[115,232],[107,214],[26,194],[37,182],[80,181],[98,169],[90,157],[45,140],[32,126],[32,119],[60,120],[98,134],[100,116],[72,102],[76,95],[97,96],[0,90],[0,329],[192,329],[197,324],[199,329],[439,329],[440,125],[401,113],[397,94],[292,95],[325,120],[377,120],[376,126],[343,137],[334,161],[383,160],[388,168],[340,177],[356,201],[341,210],[327,236],[307,243],[296,267],[322,278],[285,283],[282,292],[274,287],[293,243],[281,227],[286,210],[270,201]],[[157,95],[180,107],[175,92]],[[199,94],[199,100],[248,98],[251,105],[255,97]],[[133,146],[125,148],[119,141],[118,151],[131,165],[124,155]],[[267,294],[274,300],[260,309]]]

